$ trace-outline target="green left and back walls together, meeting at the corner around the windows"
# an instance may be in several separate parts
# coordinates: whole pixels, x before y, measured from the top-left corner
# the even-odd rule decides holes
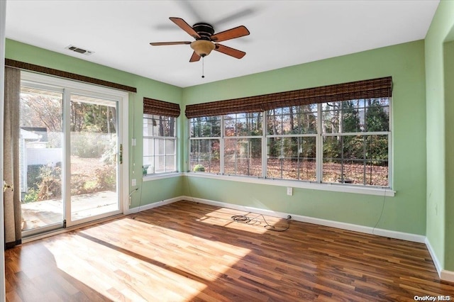
[[[163,84],[74,57],[8,40],[6,57],[37,65],[84,74],[89,77],[135,86],[130,100],[131,178],[141,185],[143,96],[182,104],[232,99],[240,96],[338,84],[377,77],[393,77],[392,101],[394,169],[392,186],[396,196],[348,194],[294,189],[285,194],[282,186],[245,184],[238,181],[174,177],[145,181],[133,194],[131,207],[181,195],[266,208],[314,218],[336,220],[404,233],[426,233],[426,102],[424,43],[416,41],[392,47],[345,55],[270,72],[192,86],[185,89]],[[187,122],[179,118],[180,169],[187,169]],[[133,165],[135,163],[135,165]],[[380,213],[383,208],[383,214]],[[379,221],[380,218],[380,221]]]

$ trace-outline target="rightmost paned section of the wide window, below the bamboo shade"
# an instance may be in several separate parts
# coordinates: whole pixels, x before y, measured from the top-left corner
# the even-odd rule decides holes
[[[389,98],[321,104],[323,182],[388,186]]]

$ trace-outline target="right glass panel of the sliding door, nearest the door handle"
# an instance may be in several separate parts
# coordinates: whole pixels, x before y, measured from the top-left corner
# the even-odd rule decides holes
[[[117,102],[71,94],[71,220],[119,210]]]

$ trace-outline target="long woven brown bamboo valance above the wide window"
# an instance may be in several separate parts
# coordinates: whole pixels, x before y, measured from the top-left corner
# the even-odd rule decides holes
[[[288,106],[319,104],[329,101],[370,99],[392,96],[392,77],[367,79],[315,88],[284,91],[275,94],[248,96],[186,106],[187,118],[220,116],[230,113],[267,111]]]

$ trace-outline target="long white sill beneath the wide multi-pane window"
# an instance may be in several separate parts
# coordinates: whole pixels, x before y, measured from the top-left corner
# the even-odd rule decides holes
[[[345,184],[315,184],[306,181],[296,181],[296,180],[284,180],[284,179],[260,179],[255,177],[237,177],[237,176],[227,176],[227,175],[216,175],[216,174],[205,174],[205,173],[194,173],[186,172],[180,173],[187,177],[200,177],[200,178],[209,178],[209,179],[222,179],[229,181],[240,181],[250,184],[267,184],[270,186],[291,186],[292,188],[301,188],[301,189],[313,189],[321,191],[336,191],[336,192],[345,192],[345,193],[355,193],[355,194],[367,194],[367,195],[377,195],[377,196],[387,196],[393,197],[396,194],[396,191],[393,191],[389,188],[382,188],[377,186],[355,186],[355,185],[345,185]]]

